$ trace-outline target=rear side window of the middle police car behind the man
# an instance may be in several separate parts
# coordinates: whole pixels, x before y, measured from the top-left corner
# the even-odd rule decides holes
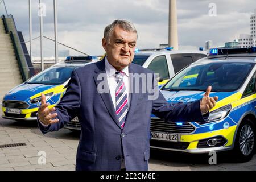
[[[171,54],[172,65],[174,65],[174,73],[176,74],[187,65],[193,63],[192,55],[189,53]]]

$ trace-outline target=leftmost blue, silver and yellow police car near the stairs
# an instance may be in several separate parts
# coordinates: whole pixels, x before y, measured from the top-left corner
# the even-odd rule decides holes
[[[11,89],[3,97],[2,118],[36,120],[41,93],[46,95],[49,108],[54,107],[65,93],[72,71],[92,63],[92,59],[95,57],[69,56],[65,63],[55,64]]]

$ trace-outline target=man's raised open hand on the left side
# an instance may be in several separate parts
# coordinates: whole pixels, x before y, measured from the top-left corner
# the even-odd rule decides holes
[[[55,107],[52,107],[51,109],[48,108],[48,104],[46,103],[46,96],[44,96],[42,93],[41,106],[38,109],[38,118],[40,119],[40,122],[42,122],[44,125],[51,125],[53,123],[59,122],[59,119],[53,119],[57,117],[57,113],[52,113],[53,111],[55,111]]]

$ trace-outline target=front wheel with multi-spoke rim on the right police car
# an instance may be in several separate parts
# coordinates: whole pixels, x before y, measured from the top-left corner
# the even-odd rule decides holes
[[[251,119],[244,119],[237,131],[234,157],[238,162],[251,160],[255,153],[255,124]]]

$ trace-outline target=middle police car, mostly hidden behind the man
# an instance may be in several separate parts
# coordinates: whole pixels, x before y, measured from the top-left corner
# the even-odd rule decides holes
[[[196,60],[207,57],[207,55],[208,52],[201,50],[173,51],[172,47],[135,49],[133,63],[158,73],[158,85],[160,88],[160,86],[170,80],[175,73]],[[65,127],[71,130],[80,130],[78,118],[76,117],[73,121],[67,123]]]

